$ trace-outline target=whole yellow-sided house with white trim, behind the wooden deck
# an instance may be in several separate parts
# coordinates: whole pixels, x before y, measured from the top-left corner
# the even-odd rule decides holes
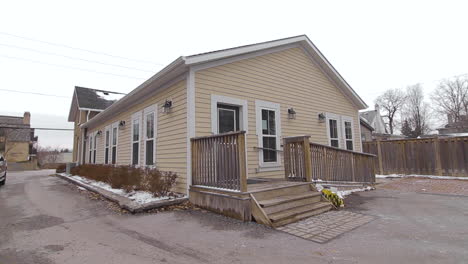
[[[74,160],[156,165],[183,193],[193,137],[246,131],[249,178],[284,177],[285,137],[361,151],[367,105],[305,35],[179,57],[110,106],[82,106],[79,89]]]

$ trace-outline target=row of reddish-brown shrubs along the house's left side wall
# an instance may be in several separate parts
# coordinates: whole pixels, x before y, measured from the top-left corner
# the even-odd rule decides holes
[[[83,164],[71,169],[71,174],[108,183],[114,189],[126,192],[148,191],[154,196],[167,196],[177,180],[174,172],[156,168]]]

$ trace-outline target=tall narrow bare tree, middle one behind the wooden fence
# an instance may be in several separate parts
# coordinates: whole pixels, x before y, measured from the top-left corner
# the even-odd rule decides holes
[[[420,84],[406,89],[403,119],[405,120],[404,130],[410,131],[406,136],[417,138],[431,130],[429,104],[424,101],[424,93]]]

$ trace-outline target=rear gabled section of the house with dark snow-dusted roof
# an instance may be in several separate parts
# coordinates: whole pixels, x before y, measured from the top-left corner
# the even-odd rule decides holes
[[[122,93],[75,86],[70,112],[68,114],[68,121],[75,123],[73,133],[73,162],[79,162],[83,159],[83,157],[78,157],[78,153],[83,153],[81,148],[84,143],[80,126],[111,106],[124,95],[125,94]]]

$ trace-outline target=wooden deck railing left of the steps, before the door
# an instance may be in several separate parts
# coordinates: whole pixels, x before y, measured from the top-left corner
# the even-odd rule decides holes
[[[192,184],[247,191],[245,131],[191,139]]]

